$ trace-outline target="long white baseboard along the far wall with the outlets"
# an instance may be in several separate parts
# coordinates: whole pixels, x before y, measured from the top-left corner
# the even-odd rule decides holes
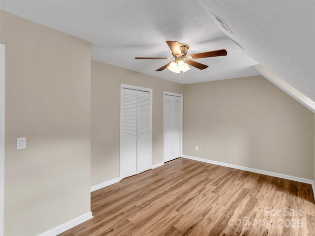
[[[203,158],[194,157],[194,156],[183,155],[183,157],[187,158],[187,159],[195,160],[195,161],[202,161],[202,162],[206,162],[206,163],[210,163],[210,164],[230,167],[230,168],[239,169],[239,170],[243,170],[243,171],[249,171],[249,172],[253,172],[253,173],[257,173],[257,174],[262,174],[262,175],[267,175],[267,176],[272,176],[272,177],[279,177],[279,178],[289,179],[289,180],[298,181],[298,182],[302,182],[302,183],[308,183],[308,184],[312,185],[313,194],[315,196],[315,183],[314,183],[313,179],[288,176],[288,175],[279,174],[279,173],[275,173],[275,172],[263,171],[263,170],[258,170],[258,169],[254,169],[254,168],[250,168],[250,167],[238,166],[238,165],[233,165],[233,164],[229,164],[229,163],[225,163],[225,162],[213,161],[213,160],[203,159]]]

